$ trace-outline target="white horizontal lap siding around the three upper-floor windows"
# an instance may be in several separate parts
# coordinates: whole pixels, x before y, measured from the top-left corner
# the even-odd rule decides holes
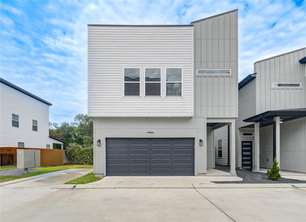
[[[192,27],[88,27],[89,116],[193,116]],[[123,96],[124,67],[141,69],[140,97]],[[144,68],[182,68],[182,96],[144,96]]]

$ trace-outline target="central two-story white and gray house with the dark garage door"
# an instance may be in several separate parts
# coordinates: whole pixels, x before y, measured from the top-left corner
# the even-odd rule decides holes
[[[95,175],[204,176],[238,116],[237,9],[190,25],[88,25]],[[235,175],[235,139],[230,140]]]

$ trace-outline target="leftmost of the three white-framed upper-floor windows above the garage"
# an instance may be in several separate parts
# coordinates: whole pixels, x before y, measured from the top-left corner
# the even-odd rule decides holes
[[[140,96],[140,68],[124,68],[124,95]]]

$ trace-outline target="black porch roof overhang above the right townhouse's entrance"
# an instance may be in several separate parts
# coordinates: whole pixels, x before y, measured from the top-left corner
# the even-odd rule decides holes
[[[306,108],[301,109],[283,109],[283,110],[270,110],[258,115],[246,118],[243,122],[259,122],[260,126],[270,125],[271,122],[267,120],[263,120],[261,117],[265,119],[273,119],[274,117],[279,117],[282,122],[306,117]]]

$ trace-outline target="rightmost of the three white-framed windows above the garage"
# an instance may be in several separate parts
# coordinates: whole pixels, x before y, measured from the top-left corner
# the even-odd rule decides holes
[[[182,68],[166,68],[166,96],[182,96]]]

